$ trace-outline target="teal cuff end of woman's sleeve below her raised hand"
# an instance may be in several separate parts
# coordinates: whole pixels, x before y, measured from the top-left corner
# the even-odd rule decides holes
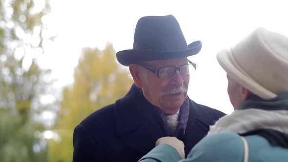
[[[159,144],[138,162],[178,162],[181,160],[177,150],[169,144]]]

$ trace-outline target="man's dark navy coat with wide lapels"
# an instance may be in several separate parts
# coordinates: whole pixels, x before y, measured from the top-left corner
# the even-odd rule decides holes
[[[185,136],[185,155],[206,136],[209,125],[225,114],[189,100],[190,112]],[[73,162],[137,162],[165,137],[159,112],[140,88],[115,103],[95,111],[76,126],[73,134]]]

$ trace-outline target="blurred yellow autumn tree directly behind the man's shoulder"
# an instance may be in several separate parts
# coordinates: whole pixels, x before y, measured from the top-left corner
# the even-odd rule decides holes
[[[76,125],[95,110],[123,97],[132,82],[127,70],[116,62],[112,44],[107,43],[104,50],[83,49],[74,83],[62,93],[62,108],[55,125],[61,140],[49,145],[52,162],[71,162]]]

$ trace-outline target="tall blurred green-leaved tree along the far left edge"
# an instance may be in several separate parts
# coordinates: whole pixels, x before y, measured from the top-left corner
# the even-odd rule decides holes
[[[0,0],[0,162],[46,162],[41,95],[51,81],[33,55],[51,40],[48,0]],[[37,136],[36,136],[37,135]]]

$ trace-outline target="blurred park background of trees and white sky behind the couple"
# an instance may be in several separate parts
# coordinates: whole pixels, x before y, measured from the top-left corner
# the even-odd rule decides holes
[[[232,113],[217,52],[257,27],[288,36],[287,6],[286,0],[0,0],[0,162],[72,161],[74,127],[132,84],[115,54],[132,48],[143,16],[172,14],[187,43],[203,42],[189,57],[197,70],[188,96]]]

